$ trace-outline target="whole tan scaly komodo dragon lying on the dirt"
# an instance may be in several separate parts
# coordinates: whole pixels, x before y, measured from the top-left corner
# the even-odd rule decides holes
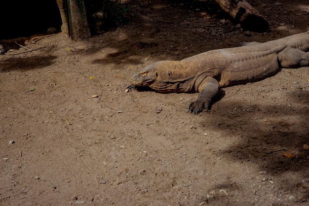
[[[158,61],[137,73],[132,86],[157,92],[199,92],[189,110],[208,109],[219,88],[259,81],[280,68],[309,66],[309,31],[265,43],[217,49],[181,61]]]

